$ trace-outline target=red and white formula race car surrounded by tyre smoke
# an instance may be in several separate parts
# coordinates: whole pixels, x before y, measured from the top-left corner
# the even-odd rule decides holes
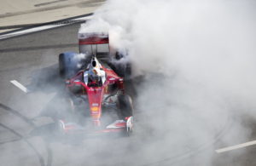
[[[60,75],[66,80],[70,106],[66,117],[58,120],[61,133],[121,132],[130,135],[133,129],[132,100],[125,94],[124,78],[119,76],[125,75],[124,67],[108,63],[108,34],[79,34],[79,52],[59,55]],[[116,55],[120,58],[120,54]],[[123,73],[118,75],[116,71]]]

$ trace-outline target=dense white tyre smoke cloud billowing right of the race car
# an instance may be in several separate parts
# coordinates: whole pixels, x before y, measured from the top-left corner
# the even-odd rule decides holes
[[[228,123],[236,131],[222,141],[250,134],[241,115],[256,115],[254,9],[250,0],[110,0],[79,32],[108,31],[114,48],[129,50],[133,74],[145,77],[138,128],[152,129],[163,155],[209,144]]]

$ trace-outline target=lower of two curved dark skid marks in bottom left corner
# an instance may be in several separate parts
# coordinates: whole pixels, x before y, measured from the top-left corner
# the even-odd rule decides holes
[[[36,156],[38,157],[38,161],[40,163],[41,166],[44,166],[44,157],[42,157],[40,155],[40,153],[38,152],[38,150],[32,145],[32,143],[30,143],[28,140],[26,140],[25,137],[23,137],[22,135],[20,135],[18,132],[16,132],[14,129],[10,129],[9,127],[5,126],[3,123],[0,123],[0,126],[3,127],[4,129],[8,129],[10,132],[12,132],[13,134],[17,135],[18,137],[20,137],[21,140],[24,140],[26,142],[26,144],[28,146],[30,146],[32,148],[32,150],[35,152]]]

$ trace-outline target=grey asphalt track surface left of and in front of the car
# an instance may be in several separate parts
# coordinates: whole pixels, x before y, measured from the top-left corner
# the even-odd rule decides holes
[[[90,139],[55,136],[53,120],[47,115],[63,86],[57,73],[58,54],[79,51],[78,30],[79,24],[73,24],[0,41],[1,165],[256,165],[255,146],[236,150],[241,151],[236,158],[230,157],[234,152],[217,154],[208,148],[209,144],[221,145],[218,137],[228,135],[229,123],[215,140],[178,154],[177,149],[170,148],[164,156],[158,155],[162,147],[150,147],[153,140],[140,134]],[[9,83],[14,79],[35,92],[24,94]],[[248,128],[254,126],[247,123]],[[254,132],[251,139],[256,139]],[[211,163],[200,162],[206,153],[212,154]]]

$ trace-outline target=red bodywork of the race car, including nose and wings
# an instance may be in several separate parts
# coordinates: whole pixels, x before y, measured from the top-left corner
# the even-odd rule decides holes
[[[92,47],[84,47],[87,45],[106,45],[109,43],[108,35],[105,33],[83,33],[79,34],[79,50],[80,53],[87,54],[86,52],[93,53],[90,50],[86,50]],[[85,48],[85,49],[83,49]],[[84,52],[83,52],[84,51]],[[109,51],[109,45],[108,45]],[[97,54],[97,52],[96,52]],[[109,54],[109,52],[108,52]],[[102,65],[102,64],[101,64]],[[102,103],[105,102],[105,97],[111,95],[113,93],[113,89],[119,90],[121,93],[124,93],[124,83],[123,78],[119,77],[112,69],[107,66],[101,66],[102,69],[106,73],[106,81],[102,84],[102,86],[90,86],[90,83],[84,83],[84,70],[78,72],[74,77],[67,80],[67,89],[72,89],[75,86],[82,87],[81,95],[87,95],[89,109],[88,106],[84,106],[84,112],[90,112],[90,117],[94,126],[99,127],[101,125],[101,117],[102,117]],[[114,84],[114,86],[112,86]],[[116,92],[116,91],[115,91]],[[112,102],[112,101],[110,101]],[[105,105],[104,105],[105,106]],[[77,123],[65,123],[60,120],[61,128],[67,133],[72,130],[83,130],[83,127],[79,126]],[[125,117],[125,120],[116,120],[114,123],[108,124],[107,127],[103,127],[102,129],[97,128],[94,132],[96,133],[110,133],[110,132],[119,132],[124,131],[124,129],[131,129],[132,127],[132,117]]]

